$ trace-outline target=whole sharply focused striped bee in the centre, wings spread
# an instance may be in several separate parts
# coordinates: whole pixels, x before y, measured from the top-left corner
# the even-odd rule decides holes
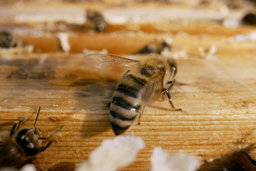
[[[174,76],[177,73],[177,63],[171,57],[151,55],[142,61],[122,58],[113,55],[90,54],[83,60],[94,67],[104,69],[114,64],[125,66],[137,65],[138,71],[128,70],[120,80],[113,94],[110,104],[110,123],[115,135],[125,132],[138,117],[140,118],[145,105],[166,94],[171,107],[172,103],[169,90],[174,85]]]

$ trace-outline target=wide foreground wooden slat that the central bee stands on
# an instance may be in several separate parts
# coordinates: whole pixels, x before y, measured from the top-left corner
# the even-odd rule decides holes
[[[147,106],[142,124],[124,133],[142,137],[146,147],[138,153],[136,162],[124,170],[149,169],[156,146],[209,161],[255,142],[255,60],[177,62],[173,102],[183,112],[172,111],[167,101]],[[39,54],[1,57],[0,65],[1,129],[10,129],[21,117],[28,118],[22,127],[33,127],[39,106],[38,127],[43,135],[65,126],[54,137],[59,143],[36,155],[33,163],[38,167],[47,169],[62,161],[78,164],[102,140],[114,137],[107,103],[127,67],[103,71],[72,55],[45,58]],[[221,165],[223,161],[214,168]],[[210,164],[204,165],[203,169],[209,167]]]

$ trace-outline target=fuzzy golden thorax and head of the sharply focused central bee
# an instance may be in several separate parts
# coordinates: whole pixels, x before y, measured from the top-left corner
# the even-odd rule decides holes
[[[138,72],[145,77],[151,77],[161,68],[166,69],[163,78],[163,87],[166,88],[167,82],[172,81],[177,73],[177,63],[170,56],[151,55],[141,60],[142,65],[138,67]]]

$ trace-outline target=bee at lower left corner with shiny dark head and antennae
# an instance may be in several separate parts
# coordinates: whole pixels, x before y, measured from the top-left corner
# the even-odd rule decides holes
[[[36,115],[34,128],[23,129],[15,134],[20,123],[25,121],[25,119],[23,119],[22,121],[15,123],[12,126],[11,131],[0,131],[0,166],[17,167],[21,165],[25,159],[29,158],[29,156],[41,153],[54,142],[51,140],[46,146],[42,146],[42,139],[50,139],[60,131],[63,126],[49,137],[42,137],[41,130],[36,128],[39,112],[40,107]]]

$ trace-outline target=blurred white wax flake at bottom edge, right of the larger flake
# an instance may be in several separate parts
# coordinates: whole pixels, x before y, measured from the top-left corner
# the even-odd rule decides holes
[[[199,165],[199,160],[193,156],[169,154],[161,147],[154,148],[150,161],[150,171],[195,171]]]

